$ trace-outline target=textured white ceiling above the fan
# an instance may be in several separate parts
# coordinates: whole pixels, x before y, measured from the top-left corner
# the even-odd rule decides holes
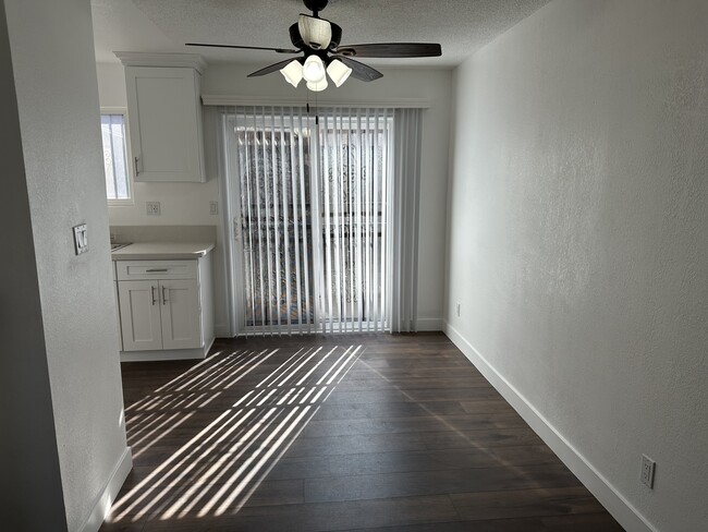
[[[440,43],[441,58],[366,59],[370,64],[450,68],[549,0],[330,0],[320,16],[342,26],[342,44]],[[200,53],[207,62],[276,62],[274,52],[190,48],[184,43],[290,48],[302,0],[91,0],[96,60],[113,51]]]

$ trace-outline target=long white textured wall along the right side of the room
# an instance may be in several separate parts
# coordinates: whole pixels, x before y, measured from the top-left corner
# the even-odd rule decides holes
[[[708,522],[706,27],[704,0],[556,0],[454,80],[448,330],[667,532]]]

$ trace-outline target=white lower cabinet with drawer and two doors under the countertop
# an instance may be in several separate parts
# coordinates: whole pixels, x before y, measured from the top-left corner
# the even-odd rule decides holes
[[[213,341],[211,276],[194,261],[118,261],[121,360],[204,358]]]

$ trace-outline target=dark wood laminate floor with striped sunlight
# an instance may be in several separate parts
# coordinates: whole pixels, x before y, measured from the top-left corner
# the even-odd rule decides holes
[[[122,371],[134,469],[105,532],[622,530],[443,335]]]

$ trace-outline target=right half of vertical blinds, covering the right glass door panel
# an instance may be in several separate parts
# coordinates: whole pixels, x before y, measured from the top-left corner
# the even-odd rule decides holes
[[[321,322],[330,331],[388,327],[391,126],[389,109],[332,109],[319,119]]]

